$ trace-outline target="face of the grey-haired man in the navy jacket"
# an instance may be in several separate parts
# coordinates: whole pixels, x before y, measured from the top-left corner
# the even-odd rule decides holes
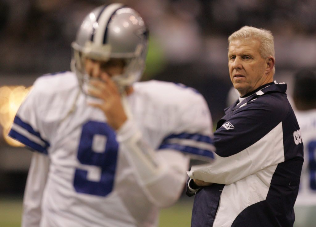
[[[229,76],[240,96],[254,91],[267,82],[265,75],[267,60],[260,56],[259,46],[260,42],[256,39],[235,40],[229,45]]]

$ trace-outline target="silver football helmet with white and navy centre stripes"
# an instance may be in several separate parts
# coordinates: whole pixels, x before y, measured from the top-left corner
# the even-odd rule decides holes
[[[100,6],[83,20],[72,44],[71,70],[87,94],[89,75],[85,71],[85,59],[108,61],[120,58],[125,61],[124,72],[113,75],[112,80],[120,92],[138,81],[145,69],[148,46],[148,29],[143,18],[130,7],[120,3]]]

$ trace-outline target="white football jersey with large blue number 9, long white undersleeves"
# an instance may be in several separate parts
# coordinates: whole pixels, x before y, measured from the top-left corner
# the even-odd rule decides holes
[[[213,157],[201,94],[162,81],[133,88],[126,97],[129,122],[145,142],[140,150],[149,146],[155,157],[146,151],[134,157],[124,142],[133,133],[116,134],[104,113],[87,104],[72,72],[37,79],[9,133],[47,154],[34,154],[22,226],[40,217],[41,226],[156,226],[158,208],[172,205],[183,190],[190,157]],[[151,158],[155,176],[143,176],[142,162]]]

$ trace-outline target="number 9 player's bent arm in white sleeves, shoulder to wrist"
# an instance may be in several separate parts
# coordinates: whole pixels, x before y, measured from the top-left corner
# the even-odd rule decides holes
[[[167,207],[179,199],[185,187],[191,155],[213,157],[211,116],[206,103],[199,109],[187,109],[174,128],[155,149],[143,139],[135,122],[129,119],[117,133],[117,140],[135,170],[138,184],[148,199],[158,207]],[[202,112],[201,112],[202,111]],[[203,112],[204,111],[204,112]]]

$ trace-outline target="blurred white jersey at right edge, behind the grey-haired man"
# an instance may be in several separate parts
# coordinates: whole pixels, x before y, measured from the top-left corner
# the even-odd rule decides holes
[[[298,206],[316,205],[316,109],[295,111],[304,143],[304,163],[300,189],[295,202]]]

